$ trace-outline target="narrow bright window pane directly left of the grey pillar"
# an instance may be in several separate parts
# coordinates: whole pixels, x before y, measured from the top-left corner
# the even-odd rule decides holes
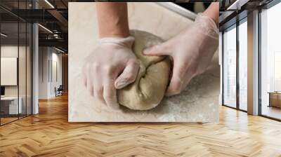
[[[239,25],[239,107],[247,111],[247,21]]]

